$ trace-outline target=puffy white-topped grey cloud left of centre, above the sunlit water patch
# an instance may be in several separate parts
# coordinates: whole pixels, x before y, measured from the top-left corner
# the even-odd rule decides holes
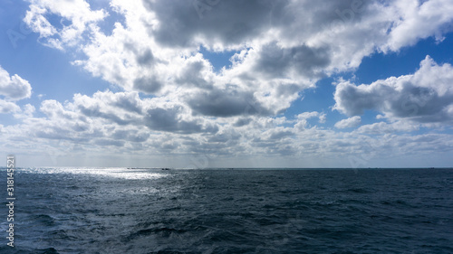
[[[49,120],[39,120],[45,125],[63,121],[67,123],[63,128],[71,127],[83,133],[99,129],[93,126],[97,124],[110,128],[107,132],[101,129],[101,136],[130,142],[146,141],[149,131],[178,134],[215,134],[218,131],[214,122],[192,117],[188,108],[175,103],[162,103],[159,99],[140,99],[137,92],[113,93],[106,90],[98,91],[92,97],[75,94],[72,101],[66,101],[64,105],[47,99],[41,103],[40,111]],[[143,127],[148,127],[147,132],[143,132]],[[100,144],[107,143],[102,141],[97,145]]]

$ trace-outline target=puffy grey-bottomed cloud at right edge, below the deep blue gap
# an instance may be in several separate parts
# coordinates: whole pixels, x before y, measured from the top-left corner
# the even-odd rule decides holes
[[[439,65],[427,56],[414,74],[360,86],[343,81],[335,90],[334,109],[349,116],[361,115],[370,109],[390,119],[450,122],[453,120],[452,73],[450,64]]]

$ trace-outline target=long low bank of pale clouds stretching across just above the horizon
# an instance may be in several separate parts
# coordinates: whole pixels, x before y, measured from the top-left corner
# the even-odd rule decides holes
[[[83,110],[82,106],[90,110]],[[448,134],[396,136],[398,132],[417,130],[403,122],[365,125],[352,133],[312,127],[308,120],[322,121],[325,116],[315,111],[302,113],[294,120],[251,116],[245,125],[236,127],[236,121],[231,119],[192,116],[188,108],[162,103],[159,98],[140,99],[135,92],[76,95],[63,104],[43,100],[39,110],[45,118],[34,117],[37,114],[33,109],[24,107],[23,111],[30,115],[22,118],[23,124],[2,127],[0,140],[24,151],[33,144],[46,147],[55,160],[60,156],[100,153],[144,157],[171,154],[186,159],[205,155],[216,158],[215,162],[217,158],[248,156],[263,158],[264,163],[273,156],[289,156],[302,160],[304,165],[319,165],[326,158],[337,158],[334,166],[353,166],[349,156],[366,155],[367,165],[361,166],[368,166],[373,158],[428,155],[438,151],[434,147],[444,152],[453,147]],[[429,147],[432,150],[428,153]],[[212,162],[209,159],[207,163]]]

